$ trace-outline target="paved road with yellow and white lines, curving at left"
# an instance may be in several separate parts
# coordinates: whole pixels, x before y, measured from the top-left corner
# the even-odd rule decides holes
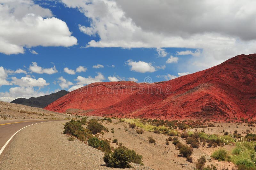
[[[4,154],[4,151],[1,154],[1,149],[5,143],[21,128],[24,128],[28,125],[41,122],[49,122],[57,120],[1,120],[0,121],[0,159],[1,155]]]

